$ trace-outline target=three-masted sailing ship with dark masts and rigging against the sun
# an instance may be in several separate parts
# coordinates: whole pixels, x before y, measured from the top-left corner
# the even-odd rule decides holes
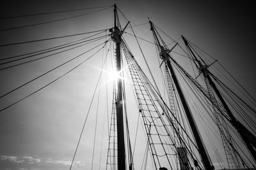
[[[90,145],[86,147],[83,145],[83,148],[86,150],[90,149],[92,152],[91,157],[86,157],[86,159],[92,159],[91,166],[86,164],[86,169],[210,170],[216,169],[216,167],[218,167],[217,169],[255,169],[256,124],[253,120],[256,117],[254,109],[256,106],[255,99],[243,87],[243,92],[238,91],[240,94],[243,94],[241,97],[236,93],[239,89],[230,89],[228,85],[223,83],[211,71],[212,67],[215,67],[219,62],[184,36],[180,38],[182,42],[171,38],[172,42],[167,45],[161,36],[161,33],[164,34],[164,32],[148,18],[147,24],[154,39],[154,41],[149,43],[156,47],[155,56],[159,63],[155,65],[161,73],[159,77],[154,78],[154,71],[156,70],[153,71],[150,68],[147,56],[143,53],[143,48],[139,43],[139,39],[147,40],[136,36],[132,29],[134,25],[131,25],[122,11],[117,8],[116,4],[111,6],[111,8],[114,8],[113,27],[99,31],[41,39],[42,41],[47,41],[90,34],[90,36],[85,38],[65,42],[62,45],[2,58],[1,66],[3,67],[1,67],[1,70],[5,71],[23,64],[31,64],[41,59],[47,59],[74,48],[88,44],[92,45],[90,48],[86,47],[87,50],[76,55],[76,57],[65,57],[65,62],[48,69],[45,73],[39,74],[36,78],[28,80],[26,83],[14,87],[8,92],[4,92],[1,95],[3,99],[29,85],[29,83],[43,78],[46,74],[52,73],[52,71],[62,66],[67,66],[70,62],[80,59],[79,57],[87,56],[83,60],[78,60],[75,66],[68,66],[68,71],[57,78],[46,79],[47,84],[25,94],[25,97],[21,97],[9,104],[8,102],[6,102],[7,104],[4,103],[5,106],[1,108],[1,112],[11,110],[13,106],[34,96],[40,90],[49,88],[52,83],[56,83],[64,76],[72,74],[79,66],[92,59],[99,52],[102,52],[102,57],[97,58],[97,62],[99,62],[99,59],[101,60],[101,66],[97,67],[100,71],[99,79],[97,80],[95,90],[89,95],[92,97],[92,101],[88,101],[88,104],[86,104],[88,112],[84,118],[81,133],[78,135],[72,158],[70,158],[69,169],[79,168],[77,166],[79,163],[76,161],[77,155],[83,152],[81,149],[83,143]],[[124,17],[124,25],[120,23],[118,11]],[[125,34],[133,36],[136,43],[138,43],[141,52],[140,56],[134,55],[129,42],[125,38]],[[20,45],[35,41],[4,44],[1,46]],[[185,48],[182,47],[181,43],[184,44]],[[169,48],[169,45],[172,45],[172,47]],[[191,66],[195,68],[193,70],[195,76],[189,74],[188,70],[182,67],[173,55],[183,56],[188,59]],[[109,59],[109,56],[111,56],[111,64],[113,66],[111,71],[108,70],[107,59]],[[146,66],[141,66],[138,60],[145,60]],[[223,69],[225,70],[225,68]],[[216,70],[218,71],[218,69]],[[106,73],[106,79],[102,76],[104,73]],[[228,72],[226,75],[223,75],[230,76]],[[231,78],[233,77],[231,76]],[[109,81],[113,82],[111,84],[113,89],[110,90],[112,94],[111,100],[108,99]],[[157,84],[159,81],[162,81],[161,85]],[[90,82],[90,80],[86,80],[86,82]],[[240,84],[238,83],[238,85]],[[103,97],[100,91],[103,89],[106,89],[106,105],[100,101]],[[130,90],[130,92],[127,93],[125,92],[126,90]],[[93,100],[97,95],[97,104],[94,103],[97,109],[91,111]],[[131,96],[134,97],[134,101],[131,101]],[[58,95],[55,97],[58,97]],[[96,136],[97,125],[100,124],[99,113],[102,111],[100,108],[106,110],[107,113],[102,118],[102,121],[104,124],[108,122],[108,128],[102,125],[101,138]],[[70,111],[72,112],[72,108],[70,108]],[[135,124],[134,120],[131,120],[131,115],[129,115],[130,111],[133,112],[132,118],[136,119]],[[88,122],[90,114],[95,115],[95,120],[92,119],[92,121],[95,121],[94,125],[92,122]],[[134,115],[136,116],[134,117]],[[84,137],[83,133],[86,131],[86,128],[88,129],[88,124],[92,125],[93,128],[90,131],[94,129],[94,133],[91,132],[88,136]],[[138,132],[139,124],[141,124],[142,132]],[[131,125],[134,126],[133,130],[131,130]],[[79,128],[77,127],[77,129]],[[134,132],[133,135],[131,131]],[[106,134],[108,139],[103,137]],[[141,144],[142,137],[144,138],[144,144]],[[88,144],[90,138],[92,143]],[[101,146],[100,156],[97,158],[99,167],[96,168],[95,143],[97,143],[97,138]],[[105,153],[102,152],[103,141],[108,143],[108,147],[104,150]],[[135,149],[143,150],[143,154],[137,153]],[[104,156],[106,156],[106,162],[103,167],[102,161]]]

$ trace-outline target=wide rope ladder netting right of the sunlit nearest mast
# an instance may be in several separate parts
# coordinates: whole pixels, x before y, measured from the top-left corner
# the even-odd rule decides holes
[[[138,63],[136,63],[136,60],[134,60],[134,57],[132,57],[131,52],[129,52],[124,43],[122,43],[122,48],[124,50],[129,71],[131,73],[134,89],[136,90],[139,109],[142,113],[145,130],[147,131],[147,140],[150,143],[150,150],[153,154],[152,158],[154,159],[155,167],[161,167],[162,162],[159,157],[157,157],[156,153],[159,145],[161,145],[164,155],[166,155],[164,159],[166,159],[171,165],[168,155],[172,154],[168,153],[169,151],[167,146],[173,146],[174,142],[170,136],[170,131],[168,130],[167,125],[164,123],[164,120],[161,117],[160,111],[156,107],[156,103],[160,104],[159,100],[155,98],[156,94],[154,94],[153,90],[148,87],[149,82],[146,76],[142,73]],[[163,109],[163,105],[160,104],[160,106]],[[152,129],[152,132],[150,132],[149,129]],[[157,136],[157,139],[152,136]],[[172,144],[168,144],[170,141],[172,141]]]

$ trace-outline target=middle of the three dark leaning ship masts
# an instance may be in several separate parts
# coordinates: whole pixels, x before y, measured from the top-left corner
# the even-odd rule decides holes
[[[157,41],[157,47],[158,47],[158,49],[160,51],[160,57],[161,57],[161,59],[163,59],[164,64],[166,64],[168,66],[168,69],[170,70],[170,73],[172,74],[173,83],[175,84],[175,87],[176,87],[177,92],[179,94],[180,101],[181,101],[182,106],[184,108],[184,111],[186,113],[186,117],[188,117],[188,122],[189,122],[191,130],[193,132],[193,136],[195,137],[196,145],[198,146],[198,150],[199,150],[202,162],[204,164],[204,167],[207,170],[211,170],[212,166],[211,166],[211,163],[210,163],[207,151],[205,150],[204,143],[203,143],[202,138],[201,138],[201,136],[200,136],[200,134],[198,132],[198,128],[197,128],[197,126],[195,124],[195,120],[194,120],[193,115],[192,115],[192,113],[191,113],[191,111],[189,109],[188,103],[187,103],[187,101],[186,101],[186,99],[184,97],[184,94],[183,94],[183,92],[182,92],[182,90],[180,88],[179,81],[177,80],[177,76],[175,75],[175,72],[173,70],[172,64],[170,62],[170,55],[169,55],[169,53],[172,51],[172,49],[177,44],[175,46],[173,46],[173,48],[171,50],[168,50],[168,49],[164,48],[163,46],[161,46],[160,41],[157,38],[156,31],[154,29],[154,25],[152,24],[151,21],[149,21],[149,23],[150,23],[150,30],[153,32],[153,35],[154,35],[154,37],[156,38],[156,41]],[[162,62],[162,64],[163,64],[163,62]],[[195,166],[196,166],[196,164],[197,164],[196,161],[194,163],[195,163]]]

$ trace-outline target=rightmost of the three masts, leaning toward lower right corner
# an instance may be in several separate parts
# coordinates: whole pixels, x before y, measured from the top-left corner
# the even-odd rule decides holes
[[[196,62],[198,63],[198,65],[199,65],[198,69],[204,74],[205,78],[207,78],[207,80],[209,81],[209,84],[211,85],[212,89],[214,89],[214,92],[216,93],[216,95],[220,99],[221,103],[223,104],[223,107],[225,108],[225,110],[227,111],[228,116],[231,119],[230,123],[236,128],[237,132],[240,134],[240,136],[243,139],[245,145],[247,146],[249,152],[252,154],[253,159],[256,161],[256,151],[253,148],[253,146],[256,148],[256,142],[255,142],[256,137],[252,134],[252,132],[250,132],[246,127],[244,127],[244,125],[241,124],[241,122],[239,122],[236,119],[236,117],[234,117],[232,111],[230,110],[230,108],[228,108],[227,103],[225,102],[225,100],[221,96],[220,91],[218,90],[214,81],[212,81],[212,79],[210,77],[210,72],[207,69],[207,67],[209,67],[209,66],[203,66],[203,64],[200,62],[200,60],[198,60],[196,58],[196,55],[193,52],[193,50],[191,49],[191,47],[189,46],[189,43],[188,43],[187,39],[184,38],[184,36],[182,36],[182,39],[183,39],[185,45],[188,46],[189,51],[192,53],[193,57],[195,58]]]

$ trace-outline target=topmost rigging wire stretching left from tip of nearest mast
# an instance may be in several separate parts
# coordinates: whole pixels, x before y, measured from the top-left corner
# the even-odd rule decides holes
[[[111,6],[98,6],[98,7],[90,7],[90,8],[78,8],[78,9],[74,9],[74,10],[51,11],[51,12],[44,12],[44,13],[32,13],[32,14],[27,14],[27,15],[0,17],[0,20],[10,19],[10,18],[31,17],[31,16],[37,16],[37,15],[47,15],[47,14],[53,14],[53,13],[65,13],[65,12],[70,12],[70,11],[92,10],[92,9],[96,9],[96,8],[106,8],[106,7],[111,7]]]

